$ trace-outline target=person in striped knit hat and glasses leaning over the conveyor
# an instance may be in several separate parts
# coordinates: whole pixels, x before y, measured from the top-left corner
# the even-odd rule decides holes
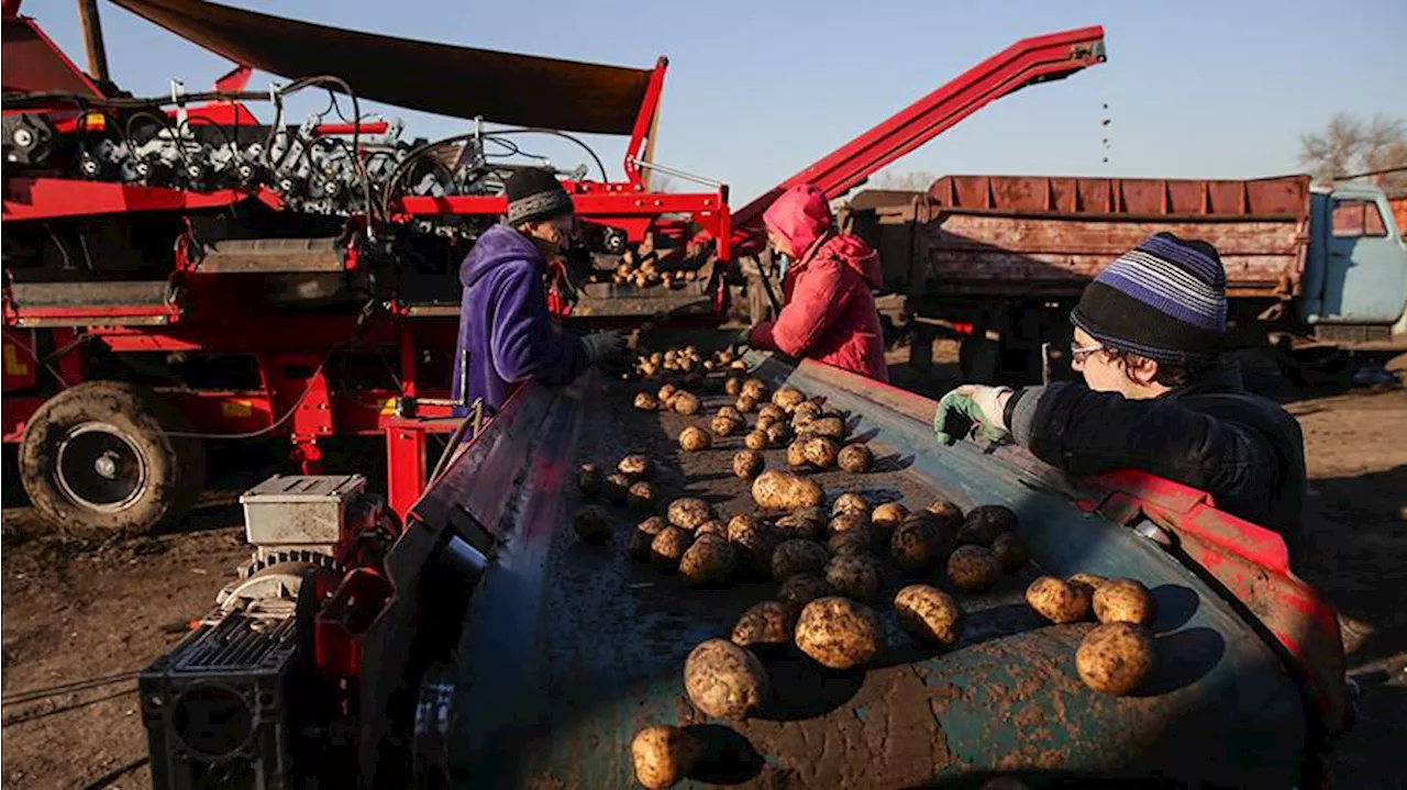
[[[1083,382],[964,384],[933,427],[953,444],[1010,437],[1071,474],[1140,470],[1211,493],[1217,506],[1303,551],[1304,439],[1220,357],[1225,268],[1203,240],[1157,233],[1114,259],[1071,312]]]

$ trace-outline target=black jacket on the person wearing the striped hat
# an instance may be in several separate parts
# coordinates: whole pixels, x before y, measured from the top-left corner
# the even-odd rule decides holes
[[[1304,436],[1279,403],[1252,395],[1227,365],[1148,401],[1061,382],[1017,392],[1006,408],[1017,444],[1075,475],[1141,470],[1206,491],[1217,507],[1304,548]]]

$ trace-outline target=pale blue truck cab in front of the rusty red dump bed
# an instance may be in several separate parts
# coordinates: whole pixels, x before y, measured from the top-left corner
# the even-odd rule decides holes
[[[1407,344],[1407,242],[1387,195],[1372,186],[1316,188],[1310,195],[1310,243],[1301,323],[1362,330],[1362,340]]]

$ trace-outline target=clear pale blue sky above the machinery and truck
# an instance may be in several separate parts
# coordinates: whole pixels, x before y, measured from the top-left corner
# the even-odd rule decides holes
[[[1007,96],[893,169],[1273,176],[1299,170],[1299,134],[1338,110],[1407,117],[1407,0],[1339,8],[1300,0],[227,3],[628,66],[668,55],[656,160],[727,181],[734,207],[1013,41],[1089,24],[1104,25],[1107,63]],[[72,0],[28,0],[23,10],[83,62]],[[229,67],[115,6],[103,3],[101,14],[113,77],[139,96],[166,93],[173,77],[205,89]],[[256,76],[250,87],[266,83]],[[463,131],[459,121],[397,114],[412,136]],[[592,142],[619,176],[620,141]],[[559,164],[578,162],[542,148]]]

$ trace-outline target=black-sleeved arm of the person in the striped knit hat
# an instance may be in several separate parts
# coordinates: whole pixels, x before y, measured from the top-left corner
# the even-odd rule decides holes
[[[1202,491],[1273,485],[1271,444],[1251,429],[1173,399],[1130,401],[1071,382],[1021,389],[1005,403],[1012,439],[1075,475],[1145,471]]]

